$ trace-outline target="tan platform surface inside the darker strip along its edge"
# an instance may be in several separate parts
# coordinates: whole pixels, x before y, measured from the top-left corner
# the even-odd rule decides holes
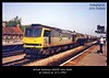
[[[100,47],[97,45],[94,49],[90,51],[86,56],[84,56],[80,62],[74,66],[107,66],[107,43],[102,46],[102,54],[98,54]]]

